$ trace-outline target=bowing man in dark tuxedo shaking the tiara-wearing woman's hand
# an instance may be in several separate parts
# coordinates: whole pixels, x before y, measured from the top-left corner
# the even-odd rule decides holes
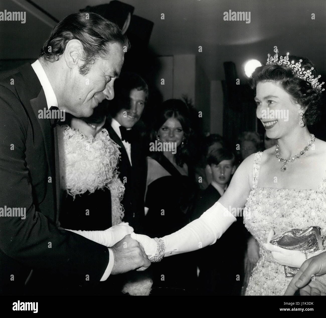
[[[35,63],[1,79],[1,294],[26,293],[24,286],[45,294],[52,284],[48,292],[56,294],[53,277],[103,281],[150,265],[130,236],[108,249],[58,229],[59,112],[51,107],[88,117],[99,102],[111,100],[125,48],[115,24],[94,13],[71,14],[52,30]]]

